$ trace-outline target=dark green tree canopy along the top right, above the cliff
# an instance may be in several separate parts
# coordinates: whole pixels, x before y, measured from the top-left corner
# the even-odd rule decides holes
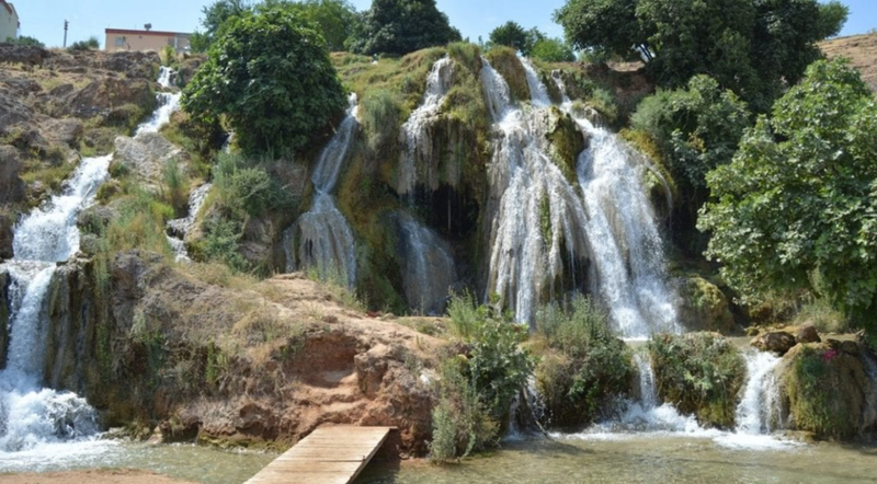
[[[817,0],[569,0],[555,19],[576,48],[637,55],[663,87],[709,74],[764,112],[846,14]]]

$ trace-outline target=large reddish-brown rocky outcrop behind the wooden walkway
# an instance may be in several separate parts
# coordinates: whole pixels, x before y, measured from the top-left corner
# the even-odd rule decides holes
[[[221,446],[288,445],[327,423],[387,425],[400,430],[399,451],[425,452],[433,389],[422,374],[436,339],[353,313],[295,275],[227,288],[155,254],[110,264],[58,268],[45,361],[47,383],[87,395],[107,424]]]

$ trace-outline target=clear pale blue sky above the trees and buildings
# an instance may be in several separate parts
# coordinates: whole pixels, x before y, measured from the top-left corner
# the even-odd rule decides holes
[[[8,0],[21,18],[21,34],[36,37],[49,47],[64,42],[64,21],[70,22],[68,45],[94,35],[103,44],[104,28],[143,28],[151,23],[156,31],[193,32],[201,10],[210,0]],[[365,10],[371,0],[349,0]],[[538,27],[550,36],[563,31],[551,20],[566,0],[437,0],[451,24],[464,37],[487,39],[490,31],[513,20],[525,28]],[[864,34],[877,28],[876,0],[841,0],[850,7],[850,19],[841,35]]]

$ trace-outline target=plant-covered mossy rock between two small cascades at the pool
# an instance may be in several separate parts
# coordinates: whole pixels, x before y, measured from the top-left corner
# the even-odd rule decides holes
[[[701,425],[734,426],[737,395],[745,380],[745,361],[721,335],[657,335],[649,342],[658,395]]]

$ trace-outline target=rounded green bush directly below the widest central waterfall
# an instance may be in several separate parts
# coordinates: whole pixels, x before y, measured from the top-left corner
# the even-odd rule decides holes
[[[608,399],[629,392],[630,348],[613,334],[608,314],[590,298],[543,307],[536,334],[548,348],[536,368],[536,384],[551,425],[590,424]]]

